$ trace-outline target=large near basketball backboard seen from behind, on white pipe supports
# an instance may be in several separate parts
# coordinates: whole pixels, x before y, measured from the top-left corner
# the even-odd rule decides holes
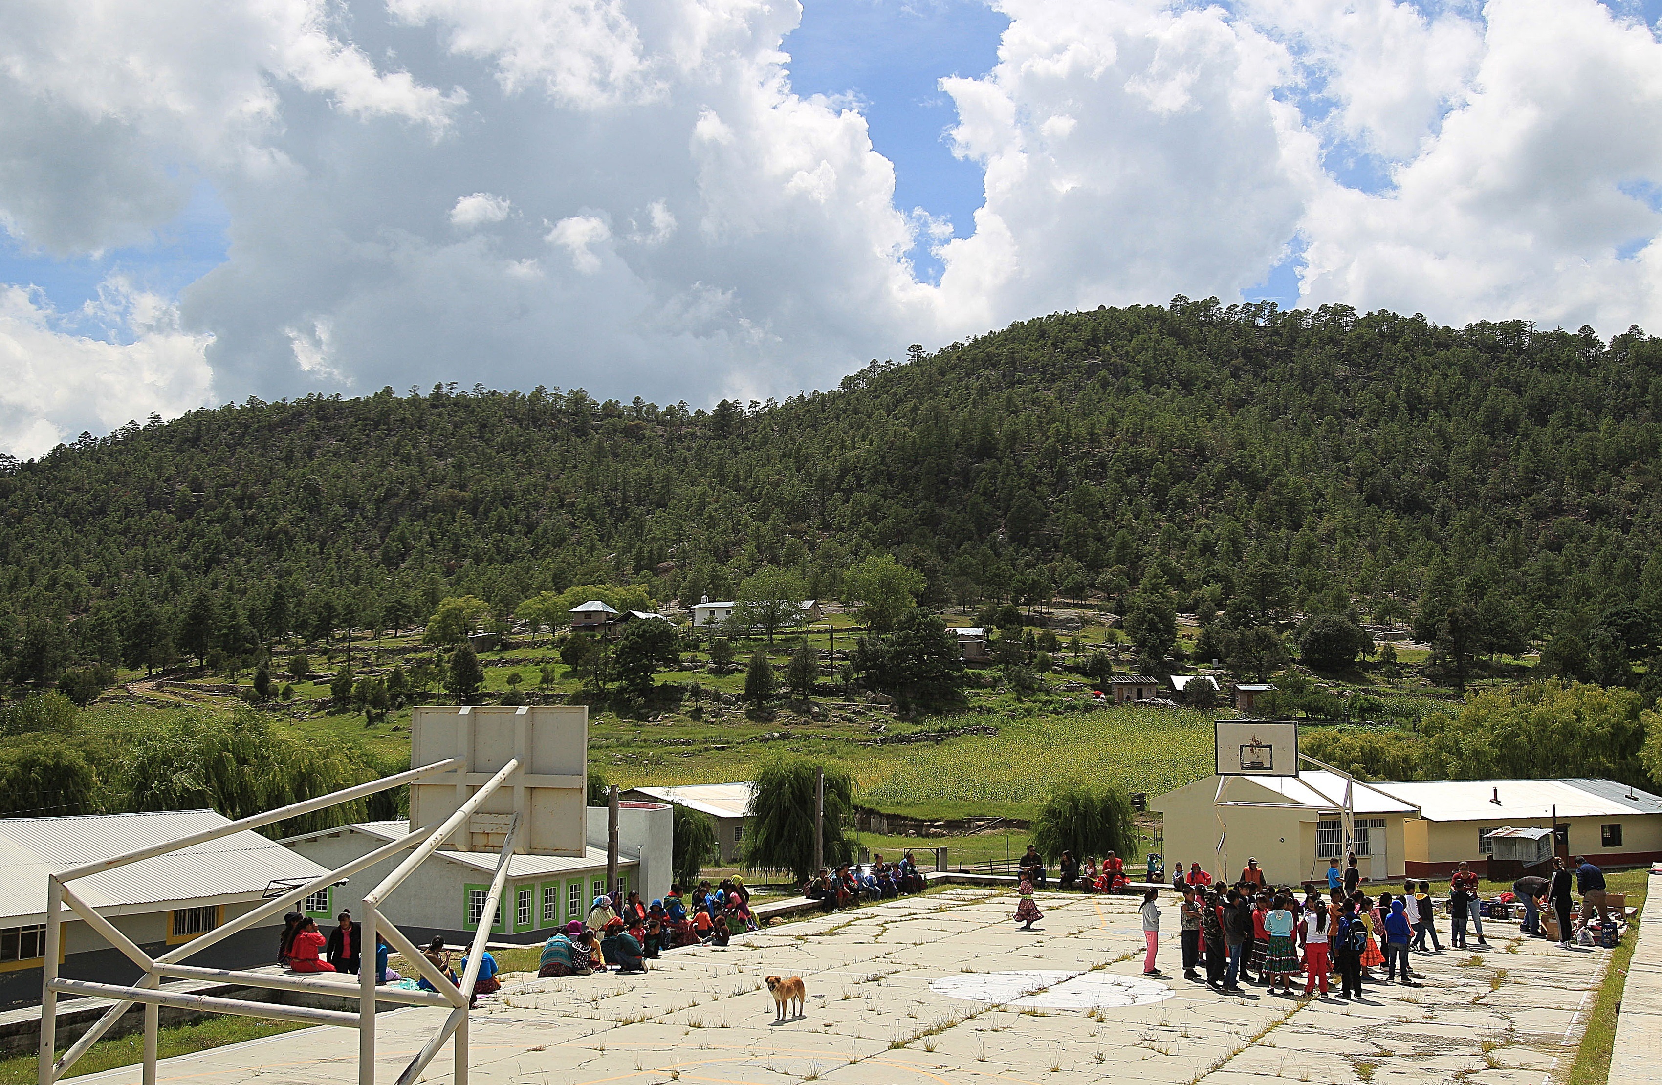
[[[514,814],[514,851],[532,856],[587,854],[588,708],[583,705],[480,705],[417,708],[411,719],[411,766],[459,758],[460,773],[411,784],[411,824],[442,821],[510,759],[520,771],[455,831],[447,847],[500,851]]]

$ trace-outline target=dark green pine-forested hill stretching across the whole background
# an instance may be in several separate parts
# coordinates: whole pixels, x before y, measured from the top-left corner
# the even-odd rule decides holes
[[[0,621],[13,678],[47,678],[178,650],[193,605],[258,643],[464,592],[731,597],[765,565],[836,597],[886,550],[941,601],[1170,590],[1240,623],[1469,601],[1542,638],[1662,601],[1659,419],[1662,342],[1637,331],[1185,299],[776,405],[249,400],[5,464]]]

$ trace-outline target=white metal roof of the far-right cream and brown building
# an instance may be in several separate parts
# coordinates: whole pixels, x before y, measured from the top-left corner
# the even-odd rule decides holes
[[[1559,817],[1662,814],[1662,798],[1614,779],[1414,779],[1376,786],[1418,806],[1426,821],[1536,821],[1551,817],[1554,806]]]

